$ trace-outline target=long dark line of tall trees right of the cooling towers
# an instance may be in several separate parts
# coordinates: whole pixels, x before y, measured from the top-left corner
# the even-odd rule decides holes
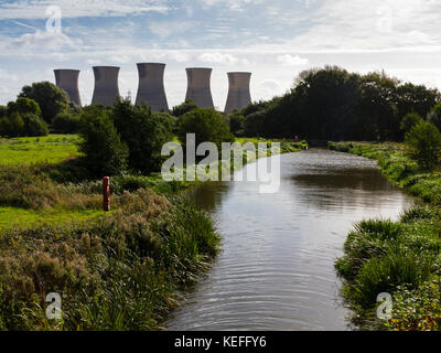
[[[306,140],[402,141],[409,113],[441,128],[441,94],[385,72],[366,75],[337,66],[302,72],[281,97],[229,115],[235,135]]]

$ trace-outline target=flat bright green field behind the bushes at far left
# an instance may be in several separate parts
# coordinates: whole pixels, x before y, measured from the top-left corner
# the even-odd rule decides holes
[[[76,135],[0,139],[0,164],[58,163],[79,154]]]

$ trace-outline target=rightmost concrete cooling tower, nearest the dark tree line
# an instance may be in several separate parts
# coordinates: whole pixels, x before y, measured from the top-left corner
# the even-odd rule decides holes
[[[229,90],[225,113],[244,109],[251,104],[249,82],[251,73],[228,73]]]

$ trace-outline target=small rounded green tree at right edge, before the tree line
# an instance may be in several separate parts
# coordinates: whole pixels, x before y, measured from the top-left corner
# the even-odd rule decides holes
[[[424,169],[433,169],[441,156],[441,132],[429,121],[420,121],[406,132],[410,156]]]

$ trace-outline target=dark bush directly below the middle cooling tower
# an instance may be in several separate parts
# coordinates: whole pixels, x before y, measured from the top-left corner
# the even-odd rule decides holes
[[[172,140],[170,116],[152,114],[147,105],[132,105],[130,99],[118,99],[111,118],[129,148],[129,167],[144,174],[160,171],[162,146]]]

